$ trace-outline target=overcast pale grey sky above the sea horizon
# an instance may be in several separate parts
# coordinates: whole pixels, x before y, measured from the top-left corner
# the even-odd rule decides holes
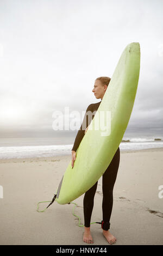
[[[162,10],[162,0],[0,0],[1,135],[46,134],[54,111],[100,101],[95,79],[112,76],[130,42],[141,68],[128,128],[162,134]]]

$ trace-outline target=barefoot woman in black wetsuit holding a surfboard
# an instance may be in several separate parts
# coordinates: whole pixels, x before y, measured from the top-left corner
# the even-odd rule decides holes
[[[95,94],[96,99],[103,99],[106,89],[108,88],[110,82],[109,77],[98,77],[95,80],[94,88],[92,92]],[[74,141],[74,145],[72,148],[72,168],[74,166],[74,161],[76,160],[76,151],[79,147],[80,142],[82,141],[85,132],[87,131],[88,126],[91,123],[90,118],[87,114],[88,111],[93,113],[96,112],[101,101],[97,103],[90,104],[84,116],[83,123],[80,127],[80,130],[77,133],[76,139]],[[95,113],[94,112],[94,113]],[[89,112],[90,113],[90,112]],[[92,114],[92,119],[95,115]],[[83,126],[86,124],[86,129],[82,129]],[[113,204],[113,196],[112,191],[114,188],[114,184],[116,181],[117,171],[120,163],[120,148],[118,147],[114,157],[112,158],[108,168],[105,170],[103,174],[103,181],[102,181],[102,190],[103,190],[103,203],[102,203],[102,210],[103,210],[103,221],[102,221],[102,229],[103,235],[105,236],[106,240],[112,244],[116,242],[116,237],[113,236],[109,232],[110,228],[110,216],[112,211],[112,204]],[[90,222],[91,222],[91,215],[93,210],[93,203],[94,197],[97,189],[97,183],[93,185],[87,192],[85,192],[83,205],[84,205],[84,235],[83,241],[86,243],[93,243],[93,239],[90,232]]]

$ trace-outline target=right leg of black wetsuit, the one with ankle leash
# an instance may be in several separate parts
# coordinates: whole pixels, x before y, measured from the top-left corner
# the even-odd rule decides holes
[[[108,168],[103,174],[103,221],[109,222],[112,204],[113,204],[113,188],[117,177],[118,167],[120,164],[120,148],[117,149],[114,157],[112,158]]]

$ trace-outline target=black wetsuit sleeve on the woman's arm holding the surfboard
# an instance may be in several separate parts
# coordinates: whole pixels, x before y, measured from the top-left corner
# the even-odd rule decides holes
[[[84,115],[84,119],[83,119],[83,123],[82,125],[80,126],[80,129],[77,133],[77,136],[76,136],[76,139],[74,141],[74,145],[73,145],[73,148],[72,150],[74,151],[77,151],[78,147],[79,147],[79,144],[80,142],[82,141],[84,135],[85,135],[85,129],[87,128],[87,126],[90,125],[91,123],[91,113],[92,113],[92,110],[91,110],[91,106],[92,104],[90,104],[87,109],[86,109],[86,112],[85,112],[85,115]]]

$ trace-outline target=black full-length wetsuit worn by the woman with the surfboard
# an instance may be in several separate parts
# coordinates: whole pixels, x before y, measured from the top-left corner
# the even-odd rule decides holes
[[[80,126],[80,129],[77,133],[76,139],[74,141],[74,145],[72,150],[77,151],[80,142],[82,141],[85,135],[85,129],[91,123],[90,115],[87,114],[88,111],[91,111],[92,119],[95,116],[95,113],[102,101],[90,104],[87,109],[83,119],[83,123]],[[94,112],[95,111],[95,112]],[[83,128],[83,129],[82,129]],[[102,190],[103,190],[103,202],[102,202],[102,210],[103,210],[103,221],[102,228],[104,230],[108,230],[110,228],[110,216],[112,211],[113,204],[113,188],[116,181],[117,171],[120,164],[120,148],[118,147],[114,157],[112,158],[108,168],[105,170],[102,178]],[[91,215],[94,204],[94,197],[97,189],[98,181],[95,185],[93,185],[88,191],[85,192],[83,205],[84,205],[84,225],[85,227],[90,227]]]

